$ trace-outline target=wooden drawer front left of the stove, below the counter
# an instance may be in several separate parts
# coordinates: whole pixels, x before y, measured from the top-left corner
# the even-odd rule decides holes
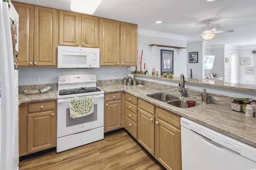
[[[55,101],[28,104],[28,112],[55,109]]]

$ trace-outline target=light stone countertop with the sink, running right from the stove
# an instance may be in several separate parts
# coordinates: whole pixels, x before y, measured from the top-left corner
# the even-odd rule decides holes
[[[198,98],[198,96],[190,95],[193,97],[181,98],[180,94],[177,95],[177,93],[172,93],[173,91],[178,91],[177,89],[166,89],[164,92],[174,94],[173,96],[177,96],[183,100],[194,100],[199,104],[195,107],[179,108],[146,96],[146,94],[163,92],[161,88],[152,89],[139,86],[125,86],[122,84],[98,86],[98,88],[104,90],[105,93],[127,92],[146,102],[150,102],[156,106],[176,113],[181,117],[186,117],[256,147],[256,118],[248,117],[242,112],[232,110],[232,98],[228,98],[227,96],[224,96],[224,98],[222,98],[223,96],[220,96],[220,100],[228,100],[229,104],[222,105],[221,103],[224,102],[218,104],[201,104],[201,96]]]

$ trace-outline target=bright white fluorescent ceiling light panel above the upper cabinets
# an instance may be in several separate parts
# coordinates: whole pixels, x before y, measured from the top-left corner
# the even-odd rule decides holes
[[[102,0],[71,0],[70,10],[84,14],[93,14]]]

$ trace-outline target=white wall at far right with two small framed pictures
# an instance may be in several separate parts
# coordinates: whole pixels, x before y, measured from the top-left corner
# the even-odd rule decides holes
[[[240,58],[248,57],[250,58],[250,65],[240,65],[238,64],[238,72],[239,72],[239,83],[241,84],[256,84],[256,72],[254,70],[254,75],[246,75],[245,68],[246,67],[254,67],[256,68],[256,56],[252,55],[252,50],[256,50],[256,45],[254,46],[245,46],[240,47],[238,57],[239,62]]]

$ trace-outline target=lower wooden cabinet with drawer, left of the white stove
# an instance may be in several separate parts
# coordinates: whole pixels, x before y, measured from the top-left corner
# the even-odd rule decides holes
[[[19,156],[56,147],[56,100],[19,107]]]

